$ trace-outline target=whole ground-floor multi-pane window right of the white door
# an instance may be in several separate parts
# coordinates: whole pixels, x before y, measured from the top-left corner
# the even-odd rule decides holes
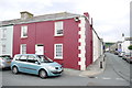
[[[63,59],[63,44],[55,44],[54,45],[54,58],[55,59]]]

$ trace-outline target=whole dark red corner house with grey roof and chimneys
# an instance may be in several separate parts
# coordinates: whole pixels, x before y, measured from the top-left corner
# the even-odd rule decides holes
[[[46,55],[64,68],[86,70],[92,63],[92,25],[89,14],[68,12],[33,16],[21,12],[13,26],[13,55]]]

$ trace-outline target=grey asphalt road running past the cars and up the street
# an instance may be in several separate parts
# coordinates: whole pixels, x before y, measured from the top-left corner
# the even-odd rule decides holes
[[[92,78],[64,74],[59,77],[41,79],[34,75],[13,75],[11,70],[0,70],[2,86],[130,86],[130,64],[113,54],[106,54],[106,70]],[[0,77],[0,78],[1,78]]]

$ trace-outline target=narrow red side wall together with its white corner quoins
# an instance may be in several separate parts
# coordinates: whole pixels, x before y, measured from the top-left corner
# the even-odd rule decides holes
[[[80,70],[86,70],[87,66],[92,63],[92,30],[87,16],[79,18],[79,46],[80,51],[78,54]]]

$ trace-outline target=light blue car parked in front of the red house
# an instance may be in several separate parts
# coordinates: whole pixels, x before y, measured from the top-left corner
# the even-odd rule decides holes
[[[46,78],[48,76],[61,76],[63,67],[45,55],[18,54],[11,63],[11,70],[13,74],[21,72]]]

